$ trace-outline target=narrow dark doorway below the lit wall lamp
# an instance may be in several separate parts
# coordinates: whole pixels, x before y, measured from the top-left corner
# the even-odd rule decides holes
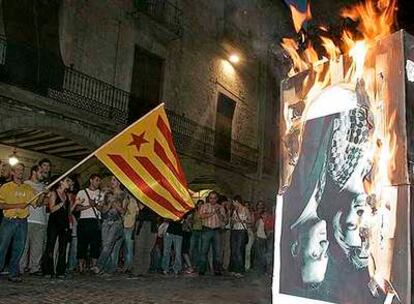
[[[219,93],[217,100],[217,116],[214,138],[214,155],[223,160],[231,158],[231,134],[236,102]]]

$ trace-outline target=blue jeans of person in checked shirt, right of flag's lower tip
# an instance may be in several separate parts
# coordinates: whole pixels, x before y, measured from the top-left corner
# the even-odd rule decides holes
[[[213,268],[214,272],[221,271],[220,261],[220,230],[204,228],[201,234],[201,255],[200,255],[200,273],[207,270],[207,258],[210,250],[213,249]]]

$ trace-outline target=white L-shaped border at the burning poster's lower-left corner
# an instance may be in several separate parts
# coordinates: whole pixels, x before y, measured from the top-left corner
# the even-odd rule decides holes
[[[283,304],[335,304],[319,300],[312,300],[303,297],[296,297],[280,293],[280,241],[282,236],[282,213],[283,213],[283,195],[276,196],[275,210],[275,238],[273,246],[273,280],[272,280],[272,303]],[[280,302],[279,302],[280,301]]]

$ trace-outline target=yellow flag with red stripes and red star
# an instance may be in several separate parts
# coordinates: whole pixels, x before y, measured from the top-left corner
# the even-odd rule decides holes
[[[146,206],[178,220],[194,208],[161,104],[95,152]]]

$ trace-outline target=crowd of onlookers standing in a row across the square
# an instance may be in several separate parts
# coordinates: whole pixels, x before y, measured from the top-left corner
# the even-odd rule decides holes
[[[270,274],[274,213],[264,202],[211,191],[180,221],[163,219],[115,177],[92,174],[58,182],[50,160],[18,163],[0,177],[0,271],[67,278],[74,272],[110,275]],[[47,189],[47,190],[46,190]]]

